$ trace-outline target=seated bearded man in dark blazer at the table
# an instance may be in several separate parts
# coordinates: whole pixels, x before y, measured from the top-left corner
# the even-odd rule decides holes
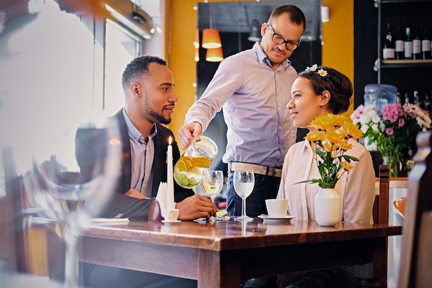
[[[173,162],[180,157],[173,132],[161,124],[171,122],[177,96],[173,73],[166,61],[158,57],[141,56],[133,59],[122,77],[125,106],[111,117],[119,124],[123,142],[121,179],[117,193],[102,215],[147,219],[150,198],[155,198],[160,182],[166,182],[166,151],[168,139],[173,141]],[[76,135],[76,156],[81,173],[95,164],[98,154],[95,143],[100,140],[95,130],[79,129]],[[103,152],[102,152],[103,153]],[[92,169],[89,169],[92,171]],[[190,189],[175,184],[176,208],[180,220],[210,218],[217,208],[210,199],[196,195]],[[143,261],[146,256],[143,255]],[[81,263],[80,275],[84,287],[197,287],[194,280],[161,276]]]

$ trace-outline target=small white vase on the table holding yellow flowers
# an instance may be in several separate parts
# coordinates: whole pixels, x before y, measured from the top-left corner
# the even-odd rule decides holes
[[[320,188],[315,195],[315,218],[321,226],[335,226],[340,218],[340,195],[333,188]]]

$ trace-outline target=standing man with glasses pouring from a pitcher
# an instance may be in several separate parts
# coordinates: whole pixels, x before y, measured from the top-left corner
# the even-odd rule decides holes
[[[205,131],[215,114],[224,109],[228,126],[229,215],[239,215],[242,199],[233,186],[234,171],[253,171],[255,187],[246,202],[246,213],[266,213],[264,200],[276,198],[284,155],[295,143],[297,128],[285,107],[297,72],[289,57],[300,46],[306,18],[300,8],[279,6],[262,24],[262,41],[252,49],[227,57],[202,97],[189,108],[179,131],[182,148]]]

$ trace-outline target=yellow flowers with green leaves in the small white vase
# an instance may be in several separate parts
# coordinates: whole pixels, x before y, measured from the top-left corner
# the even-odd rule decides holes
[[[308,127],[313,128],[313,131],[309,132],[305,139],[313,146],[321,179],[302,182],[318,183],[321,188],[334,189],[337,180],[346,171],[354,168],[351,161],[358,161],[357,157],[345,155],[346,151],[353,147],[348,140],[358,141],[363,133],[350,117],[344,115],[318,116]]]

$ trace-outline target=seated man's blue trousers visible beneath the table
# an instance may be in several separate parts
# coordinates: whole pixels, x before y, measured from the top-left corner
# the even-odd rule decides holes
[[[145,261],[146,256],[143,256]],[[80,284],[86,288],[196,288],[197,281],[135,270],[79,263]]]

